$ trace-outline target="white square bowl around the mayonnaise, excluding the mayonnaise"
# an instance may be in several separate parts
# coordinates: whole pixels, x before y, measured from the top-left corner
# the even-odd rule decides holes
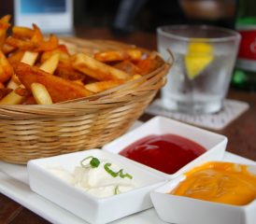
[[[72,173],[79,162],[93,156],[118,164],[133,175],[138,187],[107,198],[96,198],[50,173],[48,167],[62,166]],[[164,178],[143,170],[121,156],[100,149],[64,154],[28,162],[30,188],[90,223],[107,223],[152,207],[149,191],[163,185]]]

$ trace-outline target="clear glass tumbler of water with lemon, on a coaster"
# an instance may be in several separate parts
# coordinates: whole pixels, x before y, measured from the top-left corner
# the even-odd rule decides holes
[[[169,25],[157,29],[158,51],[174,56],[161,91],[164,107],[189,114],[220,111],[229,89],[240,35],[206,25]]]

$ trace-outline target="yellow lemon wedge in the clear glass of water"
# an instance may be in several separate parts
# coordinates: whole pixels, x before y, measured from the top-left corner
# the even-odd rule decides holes
[[[185,56],[188,77],[197,77],[214,59],[213,46],[206,42],[191,42]]]

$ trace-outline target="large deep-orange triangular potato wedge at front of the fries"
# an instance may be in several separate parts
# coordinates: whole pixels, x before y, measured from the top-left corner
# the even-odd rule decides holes
[[[14,70],[27,90],[31,90],[31,85],[35,82],[44,85],[49,91],[53,103],[86,97],[92,94],[92,91],[88,91],[72,81],[52,76],[36,66],[18,63]]]

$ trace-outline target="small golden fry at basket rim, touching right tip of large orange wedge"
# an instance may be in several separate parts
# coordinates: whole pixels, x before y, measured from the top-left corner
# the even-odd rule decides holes
[[[100,81],[100,82],[92,82],[84,87],[92,92],[100,92],[100,91],[106,91],[110,88],[119,86],[124,83],[124,80],[117,79],[117,80],[108,80],[108,81]]]

